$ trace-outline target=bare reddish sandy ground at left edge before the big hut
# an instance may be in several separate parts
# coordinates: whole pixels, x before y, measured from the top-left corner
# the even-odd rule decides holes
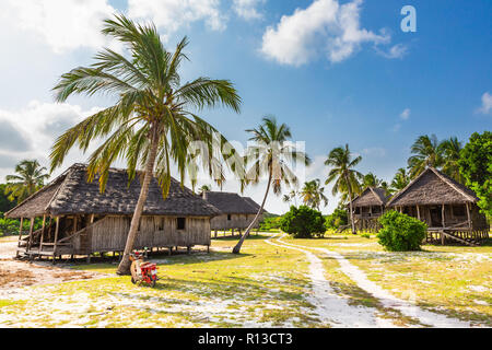
[[[15,260],[16,241],[0,242],[0,299],[23,293],[34,284],[54,284],[105,277],[104,273],[75,271],[68,265],[52,266],[49,261]]]

